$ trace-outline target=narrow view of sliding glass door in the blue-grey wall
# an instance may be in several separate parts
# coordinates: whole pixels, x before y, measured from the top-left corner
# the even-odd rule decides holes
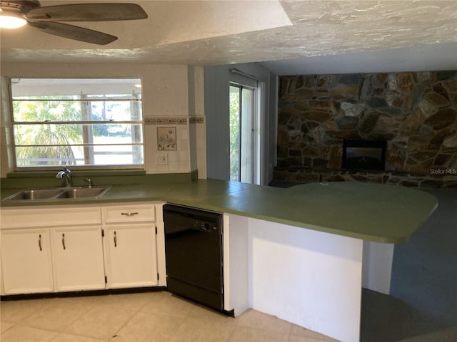
[[[257,88],[230,83],[230,180],[259,184]]]

